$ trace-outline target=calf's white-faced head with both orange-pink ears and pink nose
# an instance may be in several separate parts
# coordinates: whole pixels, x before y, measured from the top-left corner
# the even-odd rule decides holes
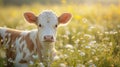
[[[38,37],[41,42],[56,41],[56,29],[59,24],[66,24],[71,19],[70,13],[63,13],[57,17],[52,11],[44,11],[39,16],[31,12],[24,13],[25,19],[29,23],[34,23],[38,27]]]

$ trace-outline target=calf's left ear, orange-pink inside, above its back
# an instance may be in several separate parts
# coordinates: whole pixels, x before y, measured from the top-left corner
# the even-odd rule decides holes
[[[37,22],[37,17],[31,12],[25,12],[24,17],[29,23],[35,23],[36,24],[36,22]]]

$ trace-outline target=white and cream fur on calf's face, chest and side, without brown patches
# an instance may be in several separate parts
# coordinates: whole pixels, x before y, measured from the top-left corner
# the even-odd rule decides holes
[[[39,25],[41,24],[41,27]],[[56,55],[55,50],[55,41],[56,41],[56,25],[58,25],[58,17],[52,11],[44,11],[38,16],[37,20],[37,30],[32,31],[23,31],[20,35],[21,37],[17,38],[14,41],[16,48],[16,57],[15,57],[15,67],[28,67],[27,63],[21,64],[19,61],[24,59],[26,61],[31,60],[31,56],[35,53],[36,49],[38,49],[37,53],[42,54],[42,59],[44,60],[44,64],[47,64],[47,67],[50,67],[52,60]],[[6,33],[6,28],[0,28],[0,36],[2,36],[3,40],[5,40],[5,36],[9,35],[8,42],[10,40],[11,33]],[[34,43],[34,50],[30,52],[27,47],[26,40],[22,40],[24,36],[30,34],[30,39]],[[44,37],[50,35],[53,36],[53,42],[45,42]],[[36,39],[40,42],[42,49],[38,48],[38,44],[36,43]],[[22,42],[21,42],[22,40]],[[6,44],[8,45],[8,43]],[[24,46],[24,47],[23,47]],[[22,49],[23,47],[23,49]],[[26,53],[23,58],[23,53]]]

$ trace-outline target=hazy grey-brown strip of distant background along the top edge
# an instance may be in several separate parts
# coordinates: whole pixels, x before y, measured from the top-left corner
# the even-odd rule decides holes
[[[109,4],[116,4],[118,5],[120,3],[120,0],[0,0],[0,4],[7,6],[7,5],[15,5],[15,6],[21,6],[25,4],[33,4],[33,3],[39,3],[42,5],[46,4],[94,4],[94,3],[101,3],[104,5]]]

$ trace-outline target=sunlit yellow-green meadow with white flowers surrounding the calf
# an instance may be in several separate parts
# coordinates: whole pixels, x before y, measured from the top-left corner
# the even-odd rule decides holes
[[[23,13],[38,15],[43,10],[53,10],[58,16],[64,12],[73,15],[68,25],[58,28],[59,58],[51,67],[120,67],[120,5],[0,6],[0,27],[34,29],[35,25],[24,20]],[[1,50],[0,67],[5,64],[3,55]],[[38,65],[37,61],[33,64]]]

